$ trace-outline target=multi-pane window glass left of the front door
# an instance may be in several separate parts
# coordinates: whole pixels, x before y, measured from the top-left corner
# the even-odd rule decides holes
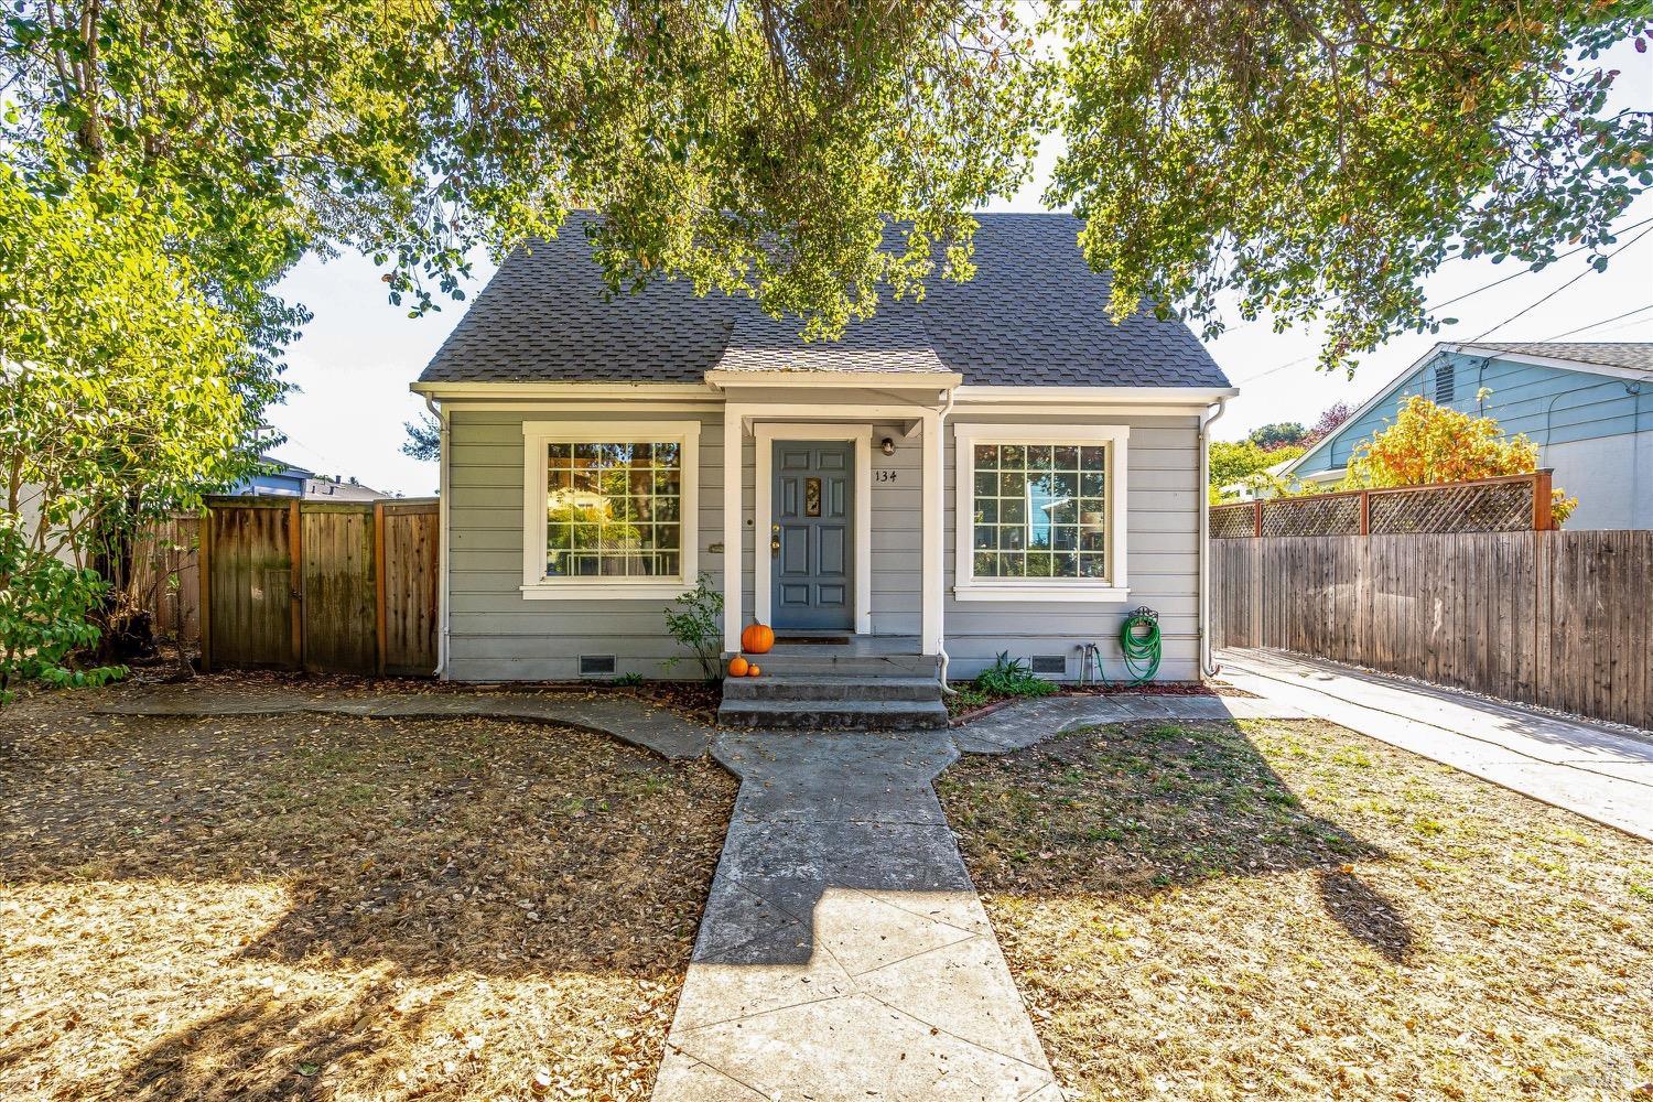
[[[683,575],[683,444],[545,444],[545,578]]]

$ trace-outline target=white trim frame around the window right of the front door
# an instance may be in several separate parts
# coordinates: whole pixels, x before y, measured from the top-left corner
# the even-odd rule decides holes
[[[1126,575],[1126,451],[1127,425],[975,425],[955,421],[954,578],[959,601],[1122,601],[1131,596]],[[977,578],[975,557],[975,443],[1106,444],[1108,446],[1108,578]]]

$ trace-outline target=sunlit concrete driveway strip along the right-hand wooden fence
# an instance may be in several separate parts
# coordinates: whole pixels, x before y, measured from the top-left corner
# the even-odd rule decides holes
[[[1222,679],[1653,841],[1653,739],[1279,651],[1227,651]]]

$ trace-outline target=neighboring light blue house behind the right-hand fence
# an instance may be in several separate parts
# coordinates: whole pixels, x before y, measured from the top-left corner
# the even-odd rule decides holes
[[[1283,474],[1341,479],[1412,395],[1526,433],[1579,499],[1569,529],[1653,529],[1653,344],[1438,344]]]

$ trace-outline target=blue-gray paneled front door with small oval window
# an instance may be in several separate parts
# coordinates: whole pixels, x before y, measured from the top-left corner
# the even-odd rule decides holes
[[[775,628],[850,631],[855,626],[855,444],[775,441]]]

